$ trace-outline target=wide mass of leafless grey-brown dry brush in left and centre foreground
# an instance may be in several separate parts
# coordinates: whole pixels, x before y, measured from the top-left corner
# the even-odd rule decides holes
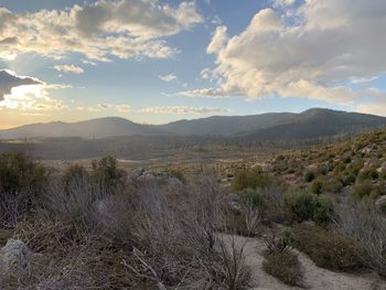
[[[226,194],[208,178],[189,185],[89,176],[62,186],[14,235],[41,256],[2,289],[245,289],[243,249],[227,250]]]

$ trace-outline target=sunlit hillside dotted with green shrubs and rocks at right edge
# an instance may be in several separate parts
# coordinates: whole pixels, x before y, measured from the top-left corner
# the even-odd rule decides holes
[[[379,198],[386,195],[386,130],[331,147],[281,154],[265,169],[313,193]]]

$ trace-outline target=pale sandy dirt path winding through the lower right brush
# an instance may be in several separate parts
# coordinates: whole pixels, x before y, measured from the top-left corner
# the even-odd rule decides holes
[[[245,245],[245,262],[251,269],[253,289],[255,290],[286,290],[301,289],[289,287],[281,283],[270,275],[267,275],[262,268],[262,251],[266,248],[265,243],[259,238],[246,238],[240,236],[222,236],[224,243],[230,247],[232,239],[237,247]],[[313,290],[386,290],[384,281],[377,281],[372,275],[350,275],[333,272],[317,267],[305,255],[299,253],[299,260],[304,268],[304,278],[308,289]]]

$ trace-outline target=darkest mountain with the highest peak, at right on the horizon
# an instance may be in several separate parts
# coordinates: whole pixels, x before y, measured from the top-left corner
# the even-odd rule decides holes
[[[235,137],[247,141],[288,141],[358,133],[384,127],[386,127],[385,117],[313,108],[280,123],[253,131],[239,132]]]

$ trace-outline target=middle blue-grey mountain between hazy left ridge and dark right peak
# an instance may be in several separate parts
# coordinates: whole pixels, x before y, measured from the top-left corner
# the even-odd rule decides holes
[[[194,120],[180,120],[161,125],[165,131],[189,136],[232,136],[242,131],[258,130],[279,123],[296,114],[269,112],[251,116],[213,116]]]

